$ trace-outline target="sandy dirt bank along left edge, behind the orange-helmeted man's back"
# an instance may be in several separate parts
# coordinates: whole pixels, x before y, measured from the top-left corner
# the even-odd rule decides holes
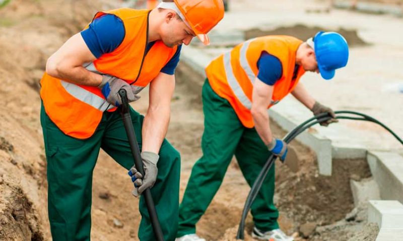
[[[100,1],[14,0],[0,9],[0,240],[50,239],[39,80],[96,8]]]

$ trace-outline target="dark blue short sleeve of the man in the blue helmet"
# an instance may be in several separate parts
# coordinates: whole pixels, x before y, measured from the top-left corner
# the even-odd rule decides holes
[[[268,85],[274,85],[283,75],[280,60],[267,52],[261,53],[257,61],[257,69],[259,70],[257,78]]]

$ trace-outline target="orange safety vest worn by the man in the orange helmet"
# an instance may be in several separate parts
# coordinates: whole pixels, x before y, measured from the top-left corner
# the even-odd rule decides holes
[[[169,48],[157,41],[146,54],[150,10],[117,9],[99,12],[119,17],[125,29],[122,43],[111,53],[102,55],[84,67],[98,74],[108,74],[138,87],[146,87],[173,57],[177,47]],[[86,27],[88,28],[88,26]],[[54,78],[45,73],[41,79],[40,96],[52,122],[66,135],[90,138],[96,131],[104,111],[114,111],[97,87],[79,85]]]

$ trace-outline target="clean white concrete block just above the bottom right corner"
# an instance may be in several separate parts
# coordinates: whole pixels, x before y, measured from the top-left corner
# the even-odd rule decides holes
[[[368,222],[378,224],[381,229],[403,228],[403,205],[397,200],[371,200],[368,206]]]

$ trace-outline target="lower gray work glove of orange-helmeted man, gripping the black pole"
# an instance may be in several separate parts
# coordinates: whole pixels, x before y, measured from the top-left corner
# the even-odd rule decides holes
[[[157,162],[160,156],[154,152],[142,152],[141,156],[144,165],[144,178],[137,171],[136,166],[130,168],[128,172],[131,181],[135,184],[135,189],[132,192],[135,197],[140,196],[147,188],[152,188],[158,174]]]

